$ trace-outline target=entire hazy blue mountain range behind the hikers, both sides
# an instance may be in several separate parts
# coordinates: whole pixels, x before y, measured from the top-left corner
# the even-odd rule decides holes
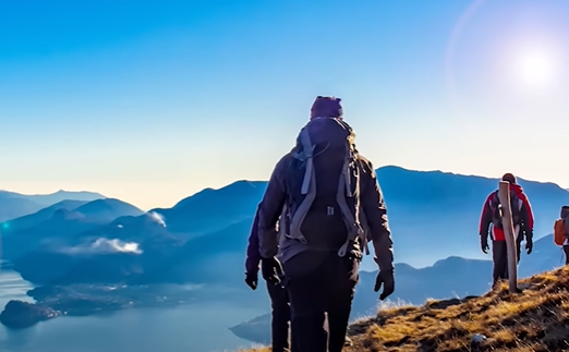
[[[498,180],[398,167],[380,168],[377,174],[395,243],[391,299],[420,304],[486,291],[492,262],[480,251],[477,227],[482,204]],[[536,218],[534,253],[522,254],[520,264],[520,276],[528,276],[560,265],[550,234],[540,235],[550,233],[569,192],[552,183],[520,183]],[[239,290],[234,300],[268,304],[263,286],[251,292],[243,283],[247,238],[266,185],[237,181],[147,213],[113,198],[59,201],[1,223],[3,258],[24,279],[47,289],[190,282]],[[377,304],[375,274],[367,272],[376,270],[372,257],[364,259],[354,316]]]

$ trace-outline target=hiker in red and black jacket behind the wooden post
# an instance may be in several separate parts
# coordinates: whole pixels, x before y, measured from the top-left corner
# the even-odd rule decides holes
[[[517,252],[517,263],[520,262],[521,242],[525,238],[525,250],[528,254],[533,248],[533,213],[530,201],[522,187],[516,183],[516,177],[506,173],[501,178],[503,181],[510,183],[510,202],[513,220],[513,236]],[[494,282],[493,287],[501,279],[508,278],[508,251],[506,246],[506,236],[501,226],[499,215],[498,191],[492,192],[482,208],[480,220],[480,243],[482,252],[488,253],[488,230],[492,239],[492,258],[494,260]]]

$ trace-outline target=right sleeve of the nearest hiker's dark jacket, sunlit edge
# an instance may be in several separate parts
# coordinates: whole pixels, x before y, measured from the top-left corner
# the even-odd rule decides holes
[[[391,231],[387,220],[387,207],[377,175],[372,163],[362,158],[361,206],[365,214],[372,243],[375,252],[375,262],[380,271],[394,270],[394,250]]]

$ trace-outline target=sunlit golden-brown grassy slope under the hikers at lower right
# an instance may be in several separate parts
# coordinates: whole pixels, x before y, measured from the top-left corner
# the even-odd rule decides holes
[[[519,287],[519,294],[509,294],[504,284],[480,298],[382,309],[350,327],[353,345],[344,351],[569,351],[569,267],[521,280]],[[477,335],[484,337],[480,343]]]

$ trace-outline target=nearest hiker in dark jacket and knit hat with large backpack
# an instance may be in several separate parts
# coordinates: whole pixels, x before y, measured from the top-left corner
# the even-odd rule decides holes
[[[383,194],[372,163],[355,150],[353,132],[340,116],[339,99],[316,99],[311,121],[275,167],[259,207],[263,277],[278,282],[278,272],[284,272],[294,352],[342,350],[368,239],[379,266],[374,290],[384,286],[380,300],[394,292]],[[274,229],[283,206],[289,210],[278,243]]]

